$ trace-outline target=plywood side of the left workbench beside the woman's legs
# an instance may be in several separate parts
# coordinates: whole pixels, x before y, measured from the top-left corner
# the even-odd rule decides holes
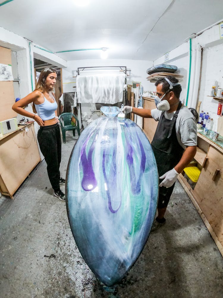
[[[23,128],[25,129],[25,128]],[[0,176],[10,194],[14,194],[40,162],[33,124],[0,141]]]

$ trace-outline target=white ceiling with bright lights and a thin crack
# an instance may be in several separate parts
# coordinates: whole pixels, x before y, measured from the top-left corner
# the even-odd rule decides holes
[[[77,5],[84,1],[88,5]],[[155,60],[222,18],[223,0],[13,0],[0,6],[0,27],[45,49],[107,47],[109,59]],[[100,51],[56,55],[98,59]]]

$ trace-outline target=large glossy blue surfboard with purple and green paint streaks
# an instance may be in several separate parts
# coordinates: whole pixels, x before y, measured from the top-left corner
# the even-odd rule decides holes
[[[76,142],[66,180],[78,249],[96,277],[112,286],[136,262],[156,214],[158,172],[151,145],[130,119],[100,117]]]

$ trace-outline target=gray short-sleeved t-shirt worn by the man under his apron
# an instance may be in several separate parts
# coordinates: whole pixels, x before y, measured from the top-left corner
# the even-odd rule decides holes
[[[153,119],[159,121],[162,111],[158,109],[151,110]],[[166,119],[172,120],[175,112],[164,112]],[[176,135],[180,146],[185,149],[188,146],[197,145],[197,123],[191,111],[182,105],[176,119]]]

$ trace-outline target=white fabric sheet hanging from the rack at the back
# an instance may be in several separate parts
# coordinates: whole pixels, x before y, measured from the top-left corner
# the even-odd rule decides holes
[[[124,74],[78,75],[78,103],[118,103],[123,101]]]

